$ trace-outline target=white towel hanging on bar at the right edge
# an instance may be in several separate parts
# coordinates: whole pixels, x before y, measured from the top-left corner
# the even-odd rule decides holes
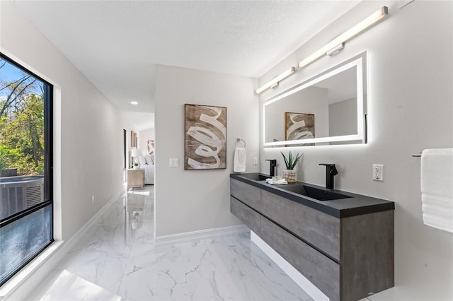
[[[453,232],[453,148],[422,152],[423,223]]]

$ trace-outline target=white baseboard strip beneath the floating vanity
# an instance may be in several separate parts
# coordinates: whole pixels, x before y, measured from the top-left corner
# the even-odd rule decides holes
[[[277,266],[279,266],[289,278],[291,278],[297,285],[299,285],[310,297],[315,301],[329,301],[329,298],[316,288],[316,286],[311,283],[307,278],[304,277],[299,271],[297,271],[294,266],[289,264],[286,259],[284,259],[280,254],[275,252],[275,250],[270,247],[264,240],[262,240],[255,232],[250,231],[250,239],[254,242],[266,255],[272,259]]]

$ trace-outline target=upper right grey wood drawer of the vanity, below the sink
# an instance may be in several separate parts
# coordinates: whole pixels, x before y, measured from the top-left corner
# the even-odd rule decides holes
[[[325,254],[340,260],[339,218],[265,190],[261,192],[260,212]]]

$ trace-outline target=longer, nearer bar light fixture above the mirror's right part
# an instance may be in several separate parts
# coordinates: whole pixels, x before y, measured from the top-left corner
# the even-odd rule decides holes
[[[311,54],[309,57],[306,57],[306,59],[302,59],[302,61],[299,61],[298,64],[299,68],[303,68],[304,66],[310,64],[312,61],[315,61],[316,59],[319,59],[319,57],[322,57],[325,54],[328,55],[336,54],[337,52],[344,48],[344,42],[350,40],[350,38],[354,37],[358,33],[361,33],[363,30],[369,28],[369,26],[381,20],[388,14],[389,8],[387,8],[387,6],[382,6],[382,8],[379,8],[378,11],[372,13],[370,16],[365,18],[365,20],[362,20],[362,22],[357,23],[357,25],[350,28],[349,30],[346,30],[345,33],[339,35],[331,42],[326,44],[324,47],[321,47],[321,49],[314,52],[314,54]],[[343,45],[343,47],[341,47],[340,45]]]

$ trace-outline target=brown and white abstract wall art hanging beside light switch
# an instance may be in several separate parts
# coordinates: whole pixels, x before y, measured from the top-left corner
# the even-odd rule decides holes
[[[226,168],[226,107],[184,105],[184,169]]]

